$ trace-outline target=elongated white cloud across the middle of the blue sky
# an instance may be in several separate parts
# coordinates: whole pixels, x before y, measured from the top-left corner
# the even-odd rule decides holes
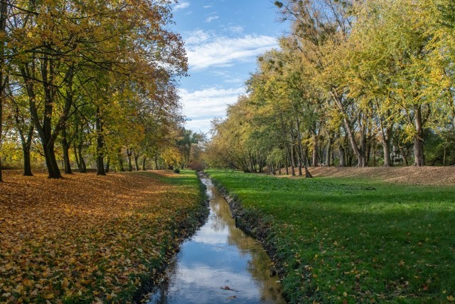
[[[278,46],[277,39],[271,36],[204,38],[205,40],[201,40],[200,44],[186,48],[188,63],[195,70],[213,66],[231,66],[238,62],[250,61],[259,54]]]

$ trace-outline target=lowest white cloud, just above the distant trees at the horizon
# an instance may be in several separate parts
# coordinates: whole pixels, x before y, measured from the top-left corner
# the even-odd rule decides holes
[[[236,103],[238,96],[243,93],[244,88],[205,88],[194,92],[180,89],[183,112],[191,119],[186,122],[188,129],[210,131],[210,121],[214,117],[225,117],[228,105]]]

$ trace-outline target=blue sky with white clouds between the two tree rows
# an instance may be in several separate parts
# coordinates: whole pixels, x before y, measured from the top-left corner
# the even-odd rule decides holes
[[[257,56],[277,48],[287,26],[272,0],[179,0],[173,4],[173,31],[188,56],[189,77],[179,95],[186,129],[210,131],[210,121],[225,117],[228,105],[245,93],[245,80]]]

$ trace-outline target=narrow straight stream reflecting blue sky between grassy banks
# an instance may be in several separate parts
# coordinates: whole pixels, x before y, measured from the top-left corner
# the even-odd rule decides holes
[[[267,253],[235,227],[210,179],[202,181],[210,198],[208,221],[182,244],[149,303],[286,303],[279,278],[270,276]]]

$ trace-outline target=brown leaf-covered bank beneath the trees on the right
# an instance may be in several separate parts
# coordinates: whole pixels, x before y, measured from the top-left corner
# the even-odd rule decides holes
[[[455,185],[455,167],[310,167],[309,171],[313,177],[365,177],[395,184]]]

